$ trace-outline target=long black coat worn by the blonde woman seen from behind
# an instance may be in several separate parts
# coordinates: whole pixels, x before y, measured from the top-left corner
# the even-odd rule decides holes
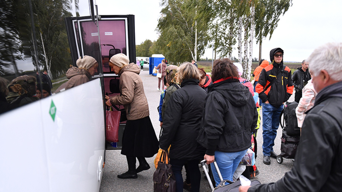
[[[159,145],[164,150],[171,145],[170,159],[200,160],[205,154],[196,138],[207,92],[198,83],[196,79],[183,80],[166,107]]]

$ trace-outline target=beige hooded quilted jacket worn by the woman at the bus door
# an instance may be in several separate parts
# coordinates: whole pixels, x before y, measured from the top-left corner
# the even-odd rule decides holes
[[[139,73],[140,68],[134,63],[124,66],[119,72],[121,94],[110,97],[111,104],[123,105],[128,120],[142,119],[149,115],[143,81]]]

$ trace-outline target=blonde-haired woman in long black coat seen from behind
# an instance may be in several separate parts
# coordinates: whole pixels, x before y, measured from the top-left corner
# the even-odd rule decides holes
[[[181,88],[176,90],[168,102],[163,116],[163,131],[159,140],[162,150],[170,148],[170,164],[176,178],[176,191],[183,191],[182,167],[188,164],[191,188],[199,191],[201,173],[199,160],[205,149],[196,138],[198,136],[202,111],[207,93],[198,86],[199,72],[195,65],[184,63],[178,69]]]

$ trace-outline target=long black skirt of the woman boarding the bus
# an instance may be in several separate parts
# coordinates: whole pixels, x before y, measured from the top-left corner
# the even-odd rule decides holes
[[[128,120],[123,131],[121,154],[135,157],[153,157],[159,142],[149,116]]]

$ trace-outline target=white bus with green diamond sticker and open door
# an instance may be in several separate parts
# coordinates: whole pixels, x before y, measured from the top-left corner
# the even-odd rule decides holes
[[[40,28],[43,24],[36,16],[41,13],[35,12],[38,4],[23,2],[13,6],[21,10],[9,10],[6,15],[22,14],[21,21],[5,21],[16,27],[0,26],[2,31],[16,34],[12,39],[0,39],[1,44],[12,46],[0,50],[0,74],[9,81],[23,74],[35,75],[32,69],[39,72],[51,56],[51,46],[43,44],[53,38],[49,39],[47,30]],[[31,3],[34,11],[30,9]],[[130,62],[135,61],[134,15],[98,16],[92,8],[93,5],[90,16],[68,17],[65,24],[60,23],[59,27],[66,28],[60,34],[64,31],[68,39],[60,35],[59,41],[65,41],[69,47],[58,53],[60,57],[71,54],[69,60],[74,66],[79,57],[94,57],[99,67],[91,81],[0,114],[0,191],[98,191],[105,150],[121,149],[125,122],[120,124],[119,142],[106,141],[104,96],[119,94],[119,77],[110,71],[109,58],[124,53]],[[55,65],[54,60],[51,62]]]

